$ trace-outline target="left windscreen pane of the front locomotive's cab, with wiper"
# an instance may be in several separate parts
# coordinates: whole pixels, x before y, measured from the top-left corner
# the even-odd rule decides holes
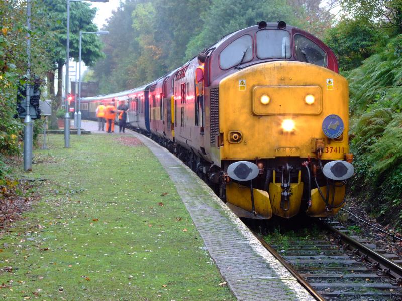
[[[219,64],[221,69],[229,69],[240,63],[246,63],[253,59],[253,39],[250,35],[244,35],[230,43],[221,51]]]

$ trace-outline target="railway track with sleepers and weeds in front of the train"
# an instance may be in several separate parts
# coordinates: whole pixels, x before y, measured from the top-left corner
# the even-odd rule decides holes
[[[317,300],[402,300],[402,260],[347,232],[319,221],[299,236],[259,239]]]

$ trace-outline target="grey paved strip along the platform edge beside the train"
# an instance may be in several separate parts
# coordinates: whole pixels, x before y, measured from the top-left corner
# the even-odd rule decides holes
[[[82,128],[105,133],[99,132],[93,121],[83,121]],[[165,168],[210,256],[237,299],[314,300],[191,169],[153,140],[128,129],[125,135],[141,140]]]

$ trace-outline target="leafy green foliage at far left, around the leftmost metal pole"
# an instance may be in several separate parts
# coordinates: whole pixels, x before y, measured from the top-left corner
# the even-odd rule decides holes
[[[46,51],[48,32],[39,17],[43,6],[39,1],[32,1],[31,18],[31,73],[44,77],[51,64]],[[14,119],[16,114],[17,87],[25,82],[20,80],[27,72],[28,33],[26,7],[21,1],[0,2],[0,177],[7,166],[3,155],[20,153],[23,124]],[[40,130],[38,122],[34,123],[34,139]]]

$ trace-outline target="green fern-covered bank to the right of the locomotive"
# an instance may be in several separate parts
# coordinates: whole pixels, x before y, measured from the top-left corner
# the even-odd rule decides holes
[[[398,35],[348,75],[355,192],[385,215],[402,191],[401,49]]]

